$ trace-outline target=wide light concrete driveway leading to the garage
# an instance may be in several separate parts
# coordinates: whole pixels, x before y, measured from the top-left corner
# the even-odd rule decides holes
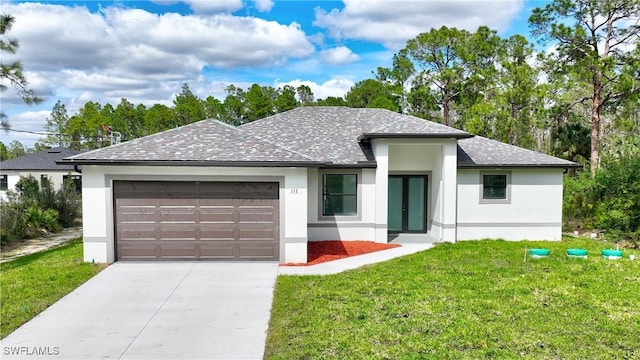
[[[115,263],[2,340],[2,359],[261,359],[276,262]]]

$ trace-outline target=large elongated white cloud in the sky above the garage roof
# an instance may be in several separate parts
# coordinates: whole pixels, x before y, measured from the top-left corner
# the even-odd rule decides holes
[[[109,8],[106,19],[127,44],[191,54],[215,67],[282,64],[290,57],[304,57],[314,51],[296,23],[283,25],[229,14],[157,15],[119,8]]]

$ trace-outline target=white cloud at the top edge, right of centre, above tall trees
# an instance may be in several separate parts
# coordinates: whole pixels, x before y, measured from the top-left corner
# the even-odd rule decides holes
[[[507,28],[523,0],[428,1],[344,0],[343,9],[316,8],[314,25],[336,39],[358,39],[402,48],[408,39],[443,25],[475,31],[480,25]]]

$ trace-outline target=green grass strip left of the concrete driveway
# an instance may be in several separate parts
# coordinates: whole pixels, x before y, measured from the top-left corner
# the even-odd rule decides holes
[[[103,268],[83,262],[80,239],[0,264],[0,338],[9,335]]]

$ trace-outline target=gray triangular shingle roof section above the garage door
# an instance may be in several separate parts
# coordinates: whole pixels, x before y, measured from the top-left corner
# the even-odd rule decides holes
[[[202,162],[313,163],[313,159],[245,134],[217,120],[203,120],[176,129],[84,154],[78,163]]]

